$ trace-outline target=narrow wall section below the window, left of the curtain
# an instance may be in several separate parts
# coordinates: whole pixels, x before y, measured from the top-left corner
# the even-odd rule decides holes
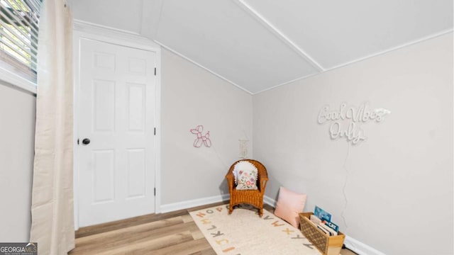
[[[0,242],[28,242],[35,96],[0,84]]]

